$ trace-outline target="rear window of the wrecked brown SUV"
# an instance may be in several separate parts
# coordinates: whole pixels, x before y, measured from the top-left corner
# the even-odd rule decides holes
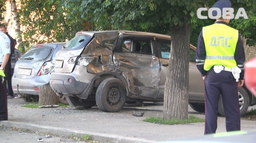
[[[76,35],[72,40],[66,43],[64,46],[67,49],[83,48],[86,43],[91,39],[90,35],[79,34]]]

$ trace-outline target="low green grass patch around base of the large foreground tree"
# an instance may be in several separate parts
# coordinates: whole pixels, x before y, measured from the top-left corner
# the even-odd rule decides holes
[[[143,121],[149,122],[149,123],[174,125],[174,124],[200,123],[200,122],[204,122],[204,119],[197,118],[194,115],[190,115],[189,119],[183,119],[183,120],[179,120],[179,119],[163,120],[162,118],[159,118],[159,117],[150,116],[149,118],[146,118]]]

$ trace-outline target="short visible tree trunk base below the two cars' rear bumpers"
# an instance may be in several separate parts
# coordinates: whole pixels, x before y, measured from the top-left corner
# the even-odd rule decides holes
[[[52,90],[50,85],[43,85],[40,87],[39,92],[39,106],[42,105],[57,105],[59,96]]]

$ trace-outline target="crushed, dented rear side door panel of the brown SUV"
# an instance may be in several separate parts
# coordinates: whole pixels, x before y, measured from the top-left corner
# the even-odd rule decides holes
[[[159,60],[152,55],[114,53],[117,69],[130,81],[130,93],[156,98],[160,82]]]

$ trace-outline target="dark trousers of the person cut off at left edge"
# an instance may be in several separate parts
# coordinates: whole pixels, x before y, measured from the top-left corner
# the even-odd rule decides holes
[[[2,77],[1,77],[1,79],[2,79]],[[4,82],[2,84],[2,80],[0,80],[0,119],[1,120],[7,120],[8,119],[6,82]]]

